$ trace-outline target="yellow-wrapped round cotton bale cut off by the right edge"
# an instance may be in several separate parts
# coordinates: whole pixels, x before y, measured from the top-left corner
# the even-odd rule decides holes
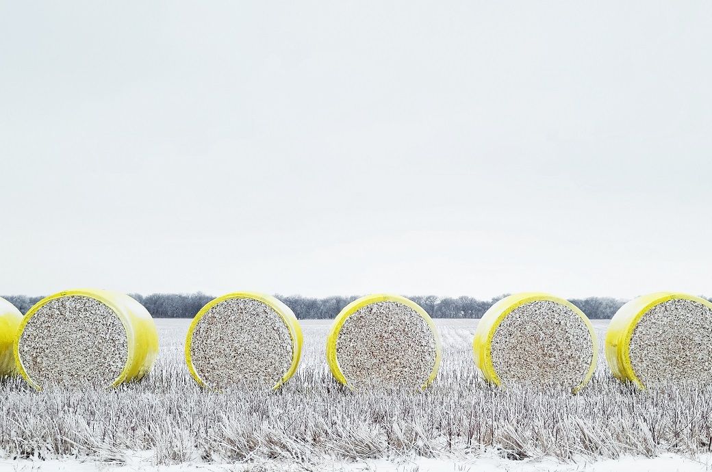
[[[712,303],[674,292],[629,301],[606,332],[606,359],[641,389],[712,382]]]

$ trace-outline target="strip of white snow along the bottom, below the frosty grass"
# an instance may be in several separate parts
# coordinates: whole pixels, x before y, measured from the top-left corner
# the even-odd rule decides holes
[[[476,472],[476,471],[520,471],[520,472],[697,472],[712,470],[712,454],[696,459],[681,456],[664,455],[657,458],[627,457],[617,460],[580,461],[578,463],[560,463],[552,458],[509,461],[497,456],[462,459],[414,458],[387,461],[379,459],[357,463],[328,463],[320,466],[298,465],[281,462],[258,462],[251,464],[201,464],[185,463],[179,466],[152,466],[145,459],[136,458],[123,466],[109,463],[77,461],[74,459],[31,461],[0,459],[0,472],[49,472],[49,471],[147,471],[147,472],[183,472],[183,471],[312,471],[312,472]]]

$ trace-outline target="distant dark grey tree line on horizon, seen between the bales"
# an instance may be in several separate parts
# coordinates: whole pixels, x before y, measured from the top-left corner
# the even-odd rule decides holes
[[[201,292],[152,293],[151,295],[132,293],[131,296],[144,305],[155,318],[193,318],[206,303],[214,298]],[[334,318],[342,308],[358,298],[356,295],[325,298],[300,295],[276,296],[286,303],[301,320]],[[500,295],[491,300],[478,300],[467,296],[452,298],[435,295],[413,295],[408,298],[422,306],[433,318],[481,318],[488,308],[505,296]],[[9,300],[22,313],[26,313],[42,297],[9,295],[3,296],[3,298]],[[570,301],[592,320],[612,318],[618,308],[625,303],[625,300],[609,297],[574,298]]]

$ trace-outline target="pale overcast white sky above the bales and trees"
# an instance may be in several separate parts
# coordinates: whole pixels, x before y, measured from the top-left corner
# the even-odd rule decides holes
[[[712,4],[0,1],[0,293],[712,295]]]

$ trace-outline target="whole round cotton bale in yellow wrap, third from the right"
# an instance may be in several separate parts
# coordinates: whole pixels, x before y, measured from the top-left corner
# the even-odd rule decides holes
[[[337,315],[326,355],[333,376],[351,389],[421,389],[435,379],[441,343],[417,303],[398,295],[368,295]]]

